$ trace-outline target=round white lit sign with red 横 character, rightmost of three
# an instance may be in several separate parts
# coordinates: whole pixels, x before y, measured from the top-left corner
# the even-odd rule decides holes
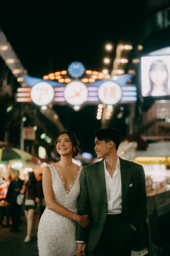
[[[107,81],[99,86],[98,97],[106,105],[114,105],[122,97],[121,87],[113,82]]]

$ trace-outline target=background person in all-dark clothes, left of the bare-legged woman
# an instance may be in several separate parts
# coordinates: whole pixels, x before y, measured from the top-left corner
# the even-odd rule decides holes
[[[20,171],[14,170],[14,180],[11,181],[5,198],[5,200],[10,204],[10,214],[12,218],[12,228],[10,229],[11,232],[19,231],[22,206],[16,203],[16,198],[19,195],[24,183],[24,181],[19,178],[19,175]]]

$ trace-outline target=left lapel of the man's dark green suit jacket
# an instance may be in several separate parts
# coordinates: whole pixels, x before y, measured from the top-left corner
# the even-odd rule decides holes
[[[104,173],[104,162],[101,160],[98,162],[98,166],[95,167],[94,176],[97,181],[101,197],[104,201],[104,204],[107,206],[107,193],[106,193],[106,181]]]

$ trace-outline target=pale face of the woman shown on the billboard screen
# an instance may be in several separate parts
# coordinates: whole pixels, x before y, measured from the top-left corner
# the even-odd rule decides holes
[[[162,65],[156,65],[154,69],[150,71],[150,79],[156,86],[163,86],[163,83],[167,79],[167,71]]]

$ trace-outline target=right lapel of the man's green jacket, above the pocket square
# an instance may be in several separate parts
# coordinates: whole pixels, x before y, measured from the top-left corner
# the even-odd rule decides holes
[[[122,208],[125,206],[127,191],[131,180],[131,169],[127,161],[120,158],[121,181],[122,181]]]

